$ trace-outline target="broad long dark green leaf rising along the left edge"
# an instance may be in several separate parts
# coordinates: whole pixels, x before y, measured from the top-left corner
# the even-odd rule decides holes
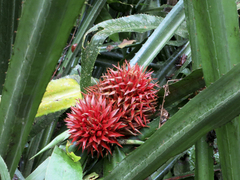
[[[0,105],[0,154],[11,176],[81,1],[26,1]]]

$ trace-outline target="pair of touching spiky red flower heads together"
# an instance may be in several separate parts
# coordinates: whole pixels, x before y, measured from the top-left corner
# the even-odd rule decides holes
[[[89,87],[65,120],[72,142],[92,155],[97,151],[103,156],[103,149],[111,153],[110,144],[122,147],[117,138],[140,133],[156,111],[158,85],[152,82],[152,72],[127,61],[122,68],[114,67]]]

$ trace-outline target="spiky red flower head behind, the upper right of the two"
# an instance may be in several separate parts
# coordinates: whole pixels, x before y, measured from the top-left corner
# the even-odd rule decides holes
[[[146,72],[137,64],[130,66],[126,61],[122,68],[114,67],[116,70],[108,69],[102,80],[89,91],[99,92],[114,101],[123,112],[120,121],[127,125],[121,133],[136,135],[156,111],[156,88],[159,86],[152,82],[152,72]]]

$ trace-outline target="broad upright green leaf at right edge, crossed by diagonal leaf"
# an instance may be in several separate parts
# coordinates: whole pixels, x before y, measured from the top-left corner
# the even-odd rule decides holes
[[[234,0],[192,1],[205,82],[227,73],[240,57],[239,23]],[[240,176],[240,118],[216,129],[223,179]]]

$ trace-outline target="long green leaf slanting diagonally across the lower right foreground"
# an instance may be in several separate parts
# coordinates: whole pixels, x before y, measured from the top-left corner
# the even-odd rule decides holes
[[[240,64],[190,100],[104,179],[144,179],[240,112]]]

